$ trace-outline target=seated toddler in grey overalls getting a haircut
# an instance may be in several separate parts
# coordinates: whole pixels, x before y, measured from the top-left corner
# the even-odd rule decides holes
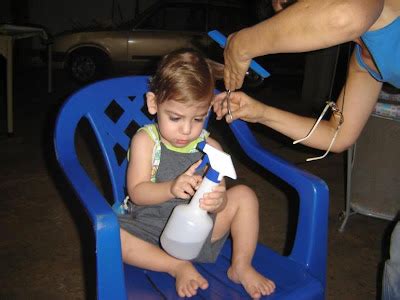
[[[202,153],[199,141],[221,149],[203,129],[213,99],[212,65],[199,52],[180,49],[166,55],[150,81],[147,109],[155,124],[140,128],[131,141],[127,170],[129,213],[119,216],[124,262],[167,272],[176,279],[180,297],[208,287],[192,262],[160,248],[160,236],[176,205],[188,203],[202,177],[195,169]],[[271,294],[274,283],[252,267],[258,239],[258,200],[247,186],[228,190],[225,182],[203,196],[200,207],[214,220],[197,262],[215,262],[227,236],[233,241],[228,277],[243,285],[252,298]]]

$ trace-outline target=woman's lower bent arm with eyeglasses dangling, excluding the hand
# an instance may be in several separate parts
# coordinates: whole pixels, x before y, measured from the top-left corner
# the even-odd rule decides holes
[[[336,101],[337,108],[343,114],[344,122],[338,131],[331,151],[342,152],[354,144],[376,105],[381,88],[382,83],[361,69],[353,54],[346,83]],[[258,122],[293,140],[305,137],[316,121],[267,105],[263,105],[262,109],[257,107],[254,111],[262,111],[262,117]],[[252,115],[254,115],[254,111],[252,111]],[[338,124],[339,115],[332,114],[329,120],[322,120],[314,133],[302,144],[326,150],[334,137]]]

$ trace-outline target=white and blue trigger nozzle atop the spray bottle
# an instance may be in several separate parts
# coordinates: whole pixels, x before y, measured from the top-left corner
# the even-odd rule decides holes
[[[224,176],[236,179],[236,171],[233,166],[231,156],[221,150],[218,150],[206,142],[202,141],[197,144],[199,150],[203,151],[205,155],[200,165],[196,168],[201,170],[204,166],[210,163],[210,168],[207,171],[207,178],[220,182]]]

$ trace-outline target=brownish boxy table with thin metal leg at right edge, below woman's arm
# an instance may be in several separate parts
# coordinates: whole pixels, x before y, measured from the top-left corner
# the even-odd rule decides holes
[[[339,231],[354,213],[392,221],[400,212],[400,120],[372,114],[347,152],[346,207]]]

